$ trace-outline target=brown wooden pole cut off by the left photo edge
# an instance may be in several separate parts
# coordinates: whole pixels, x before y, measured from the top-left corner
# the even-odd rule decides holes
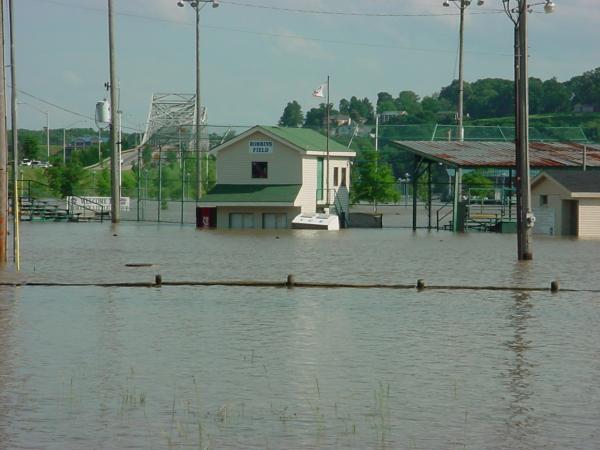
[[[0,0],[0,39],[4,43],[4,1]],[[0,45],[0,266],[7,262],[8,217],[8,141],[6,137],[6,92],[4,78],[4,45]]]

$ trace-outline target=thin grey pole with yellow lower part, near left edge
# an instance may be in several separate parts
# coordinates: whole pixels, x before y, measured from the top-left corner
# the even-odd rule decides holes
[[[8,0],[8,20],[10,25],[10,81],[11,102],[10,116],[12,126],[13,147],[13,258],[15,270],[21,270],[21,256],[19,243],[19,138],[17,126],[17,71],[15,69],[15,21],[14,0]]]

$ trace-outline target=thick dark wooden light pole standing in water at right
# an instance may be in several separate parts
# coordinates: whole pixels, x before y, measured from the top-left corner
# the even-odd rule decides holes
[[[512,6],[513,3],[516,6]],[[552,13],[552,0],[527,3],[527,0],[502,0],[504,11],[515,26],[515,159],[517,165],[517,255],[519,260],[533,259],[532,237],[535,217],[531,207],[529,174],[529,75],[527,67],[527,14],[534,6],[544,5]]]

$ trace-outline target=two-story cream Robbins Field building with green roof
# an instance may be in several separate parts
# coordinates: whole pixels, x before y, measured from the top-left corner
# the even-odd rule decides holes
[[[328,146],[321,133],[255,126],[211,154],[217,184],[200,199],[201,226],[290,228],[297,215],[328,207],[347,216],[355,152],[333,139]]]

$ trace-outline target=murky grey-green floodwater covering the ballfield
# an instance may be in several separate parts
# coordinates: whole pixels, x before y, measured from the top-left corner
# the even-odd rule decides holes
[[[600,240],[28,223],[0,281],[2,449],[597,449]],[[153,267],[126,267],[151,263]]]

